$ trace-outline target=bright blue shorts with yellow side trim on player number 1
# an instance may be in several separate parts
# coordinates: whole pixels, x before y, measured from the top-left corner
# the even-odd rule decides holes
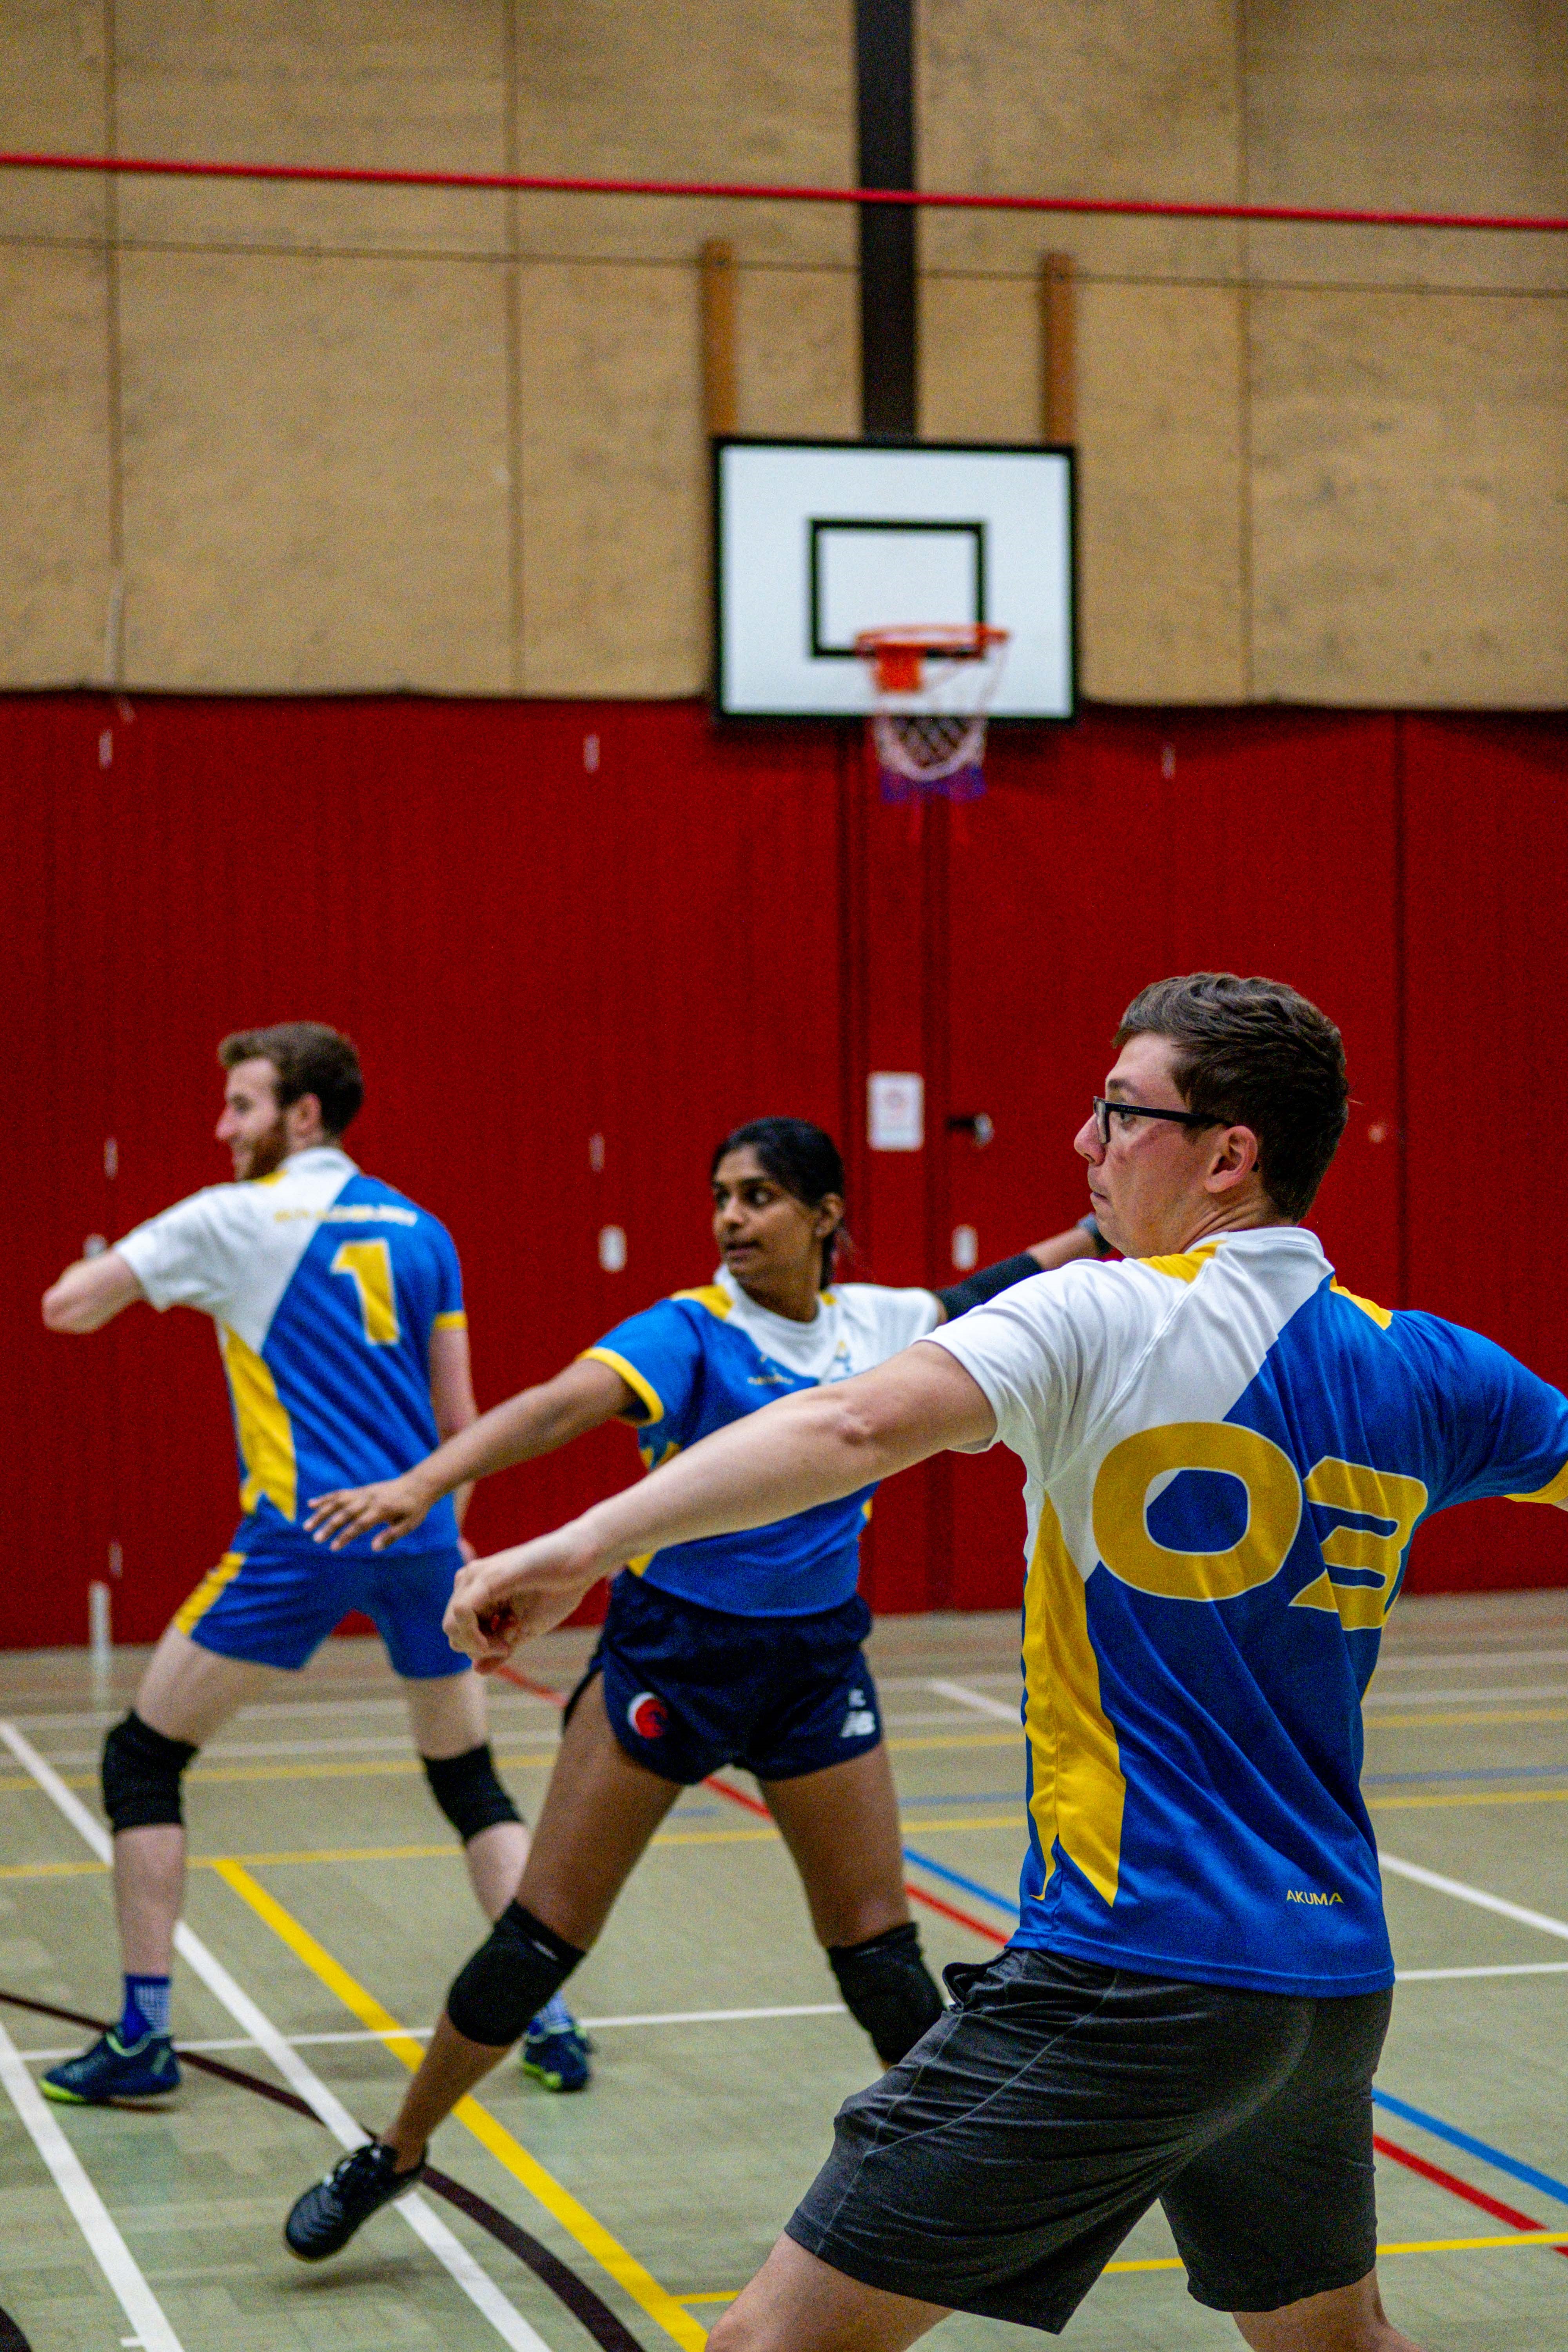
[[[386,1642],[393,1668],[409,1682],[468,1672],[442,1632],[463,1555],[371,1552],[348,1557],[327,1545],[270,1543],[223,1552],[174,1623],[219,1658],[299,1670],[334,1625],[362,1609]]]

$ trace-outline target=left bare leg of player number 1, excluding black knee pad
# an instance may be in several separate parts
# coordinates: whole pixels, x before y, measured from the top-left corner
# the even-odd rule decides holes
[[[219,1658],[174,1625],[148,1661],[136,1715],[167,1740],[205,1748],[256,1691],[284,1682],[275,1665]],[[186,1900],[186,1832],[179,1823],[120,1830],[115,1837],[115,1912],[129,1976],[169,1976],[174,1926]]]

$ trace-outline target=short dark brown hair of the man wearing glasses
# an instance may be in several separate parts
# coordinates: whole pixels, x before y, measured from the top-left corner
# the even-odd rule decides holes
[[[1133,997],[1117,1051],[1128,1037],[1171,1040],[1187,1108],[1215,1127],[1251,1127],[1262,1190],[1300,1221],[1349,1117],[1345,1044],[1328,1014],[1284,981],[1190,971]]]

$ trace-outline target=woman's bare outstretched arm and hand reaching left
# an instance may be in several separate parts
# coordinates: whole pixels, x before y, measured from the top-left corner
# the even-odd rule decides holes
[[[534,1461],[538,1454],[555,1454],[557,1446],[585,1430],[597,1430],[616,1414],[637,1418],[642,1414],[639,1397],[609,1364],[583,1357],[557,1371],[552,1381],[524,1388],[520,1397],[508,1397],[505,1404],[470,1421],[402,1477],[310,1496],[306,1526],[317,1543],[329,1543],[334,1552],[376,1526],[381,1534],[374,1550],[383,1552],[388,1543],[397,1543],[400,1536],[418,1526],[430,1505],[440,1503],[454,1486],[468,1486],[477,1477],[489,1477],[491,1470]]]

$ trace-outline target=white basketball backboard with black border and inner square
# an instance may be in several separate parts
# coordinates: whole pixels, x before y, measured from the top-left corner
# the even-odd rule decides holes
[[[1072,452],[717,440],[715,680],[733,717],[851,717],[863,628],[1009,630],[994,717],[1072,717]]]

